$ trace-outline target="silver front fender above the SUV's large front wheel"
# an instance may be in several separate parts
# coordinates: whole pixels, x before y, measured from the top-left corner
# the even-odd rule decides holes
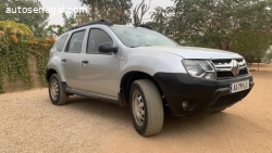
[[[186,73],[182,59],[182,56],[169,52],[123,49],[120,62],[120,80],[129,72],[143,72],[150,76],[159,72]]]

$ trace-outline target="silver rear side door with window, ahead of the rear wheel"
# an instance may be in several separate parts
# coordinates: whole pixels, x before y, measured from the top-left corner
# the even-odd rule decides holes
[[[62,73],[69,87],[74,89],[81,88],[83,40],[86,30],[74,31],[61,54]]]

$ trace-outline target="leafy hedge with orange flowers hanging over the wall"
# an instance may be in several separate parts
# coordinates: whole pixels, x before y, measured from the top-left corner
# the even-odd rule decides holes
[[[22,26],[21,24],[16,25]],[[22,26],[27,29],[27,26]],[[36,39],[28,36],[28,30],[12,30],[3,27],[0,30],[3,35],[0,36],[0,93],[3,92],[3,77],[8,75],[9,81],[14,84],[21,79],[25,88],[33,87],[33,77],[29,71],[29,55],[37,58],[37,68],[42,82],[46,84],[46,64],[49,56],[49,50],[52,47],[54,39]],[[22,31],[22,33],[20,33]]]

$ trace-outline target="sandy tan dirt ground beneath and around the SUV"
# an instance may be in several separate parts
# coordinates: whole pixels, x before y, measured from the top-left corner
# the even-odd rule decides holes
[[[127,107],[82,97],[54,106],[47,89],[1,94],[0,153],[272,153],[272,64],[252,75],[242,102],[206,116],[166,113],[161,133],[149,138],[137,135]]]

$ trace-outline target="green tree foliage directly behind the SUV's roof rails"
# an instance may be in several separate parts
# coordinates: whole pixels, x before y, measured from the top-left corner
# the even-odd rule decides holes
[[[88,23],[90,21],[99,20],[99,18],[108,18],[112,21],[114,24],[121,24],[121,25],[125,25],[132,22],[131,8],[133,4],[131,0],[101,0],[101,1],[79,0],[79,1],[82,2],[83,5],[89,9],[89,12],[88,13],[72,12],[70,13],[70,15],[63,13],[62,18],[63,18],[64,25],[63,26],[61,25],[48,26],[48,28],[46,28],[46,31],[49,33],[48,36],[50,37],[53,37],[55,35],[60,36],[65,31],[65,29],[69,29],[75,25],[82,25],[82,24]],[[138,10],[141,7],[146,7],[146,5],[144,3],[140,3],[138,5]]]

